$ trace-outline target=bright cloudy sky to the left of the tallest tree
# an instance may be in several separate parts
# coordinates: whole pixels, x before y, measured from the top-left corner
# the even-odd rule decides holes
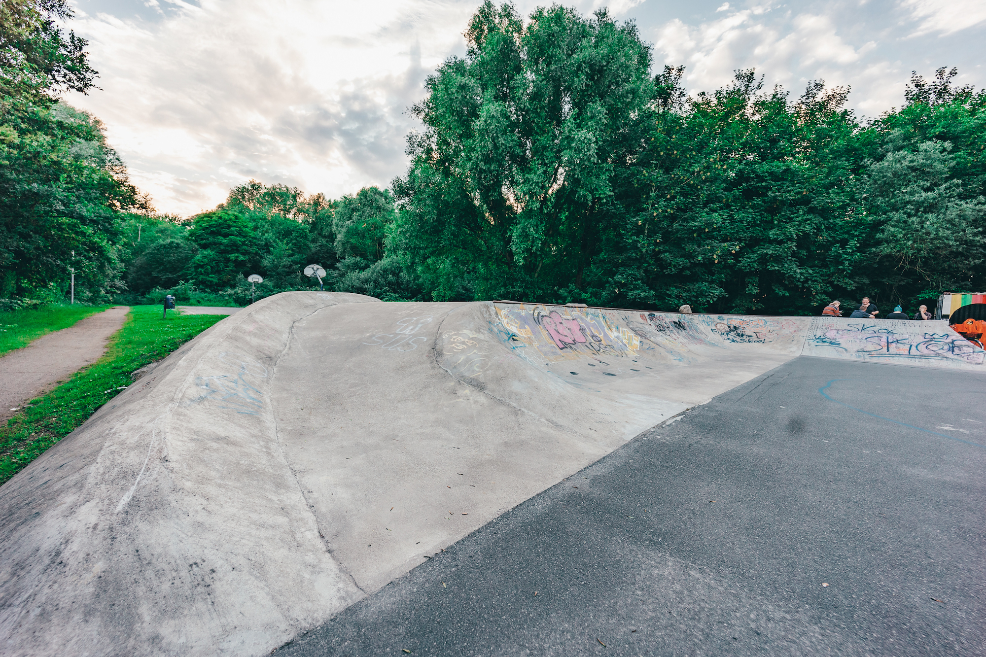
[[[176,4],[176,3],[172,3]],[[406,109],[460,47],[456,2],[180,3],[148,24],[79,16],[104,92],[74,96],[107,125],[164,211],[214,206],[256,178],[338,196],[401,173]]]

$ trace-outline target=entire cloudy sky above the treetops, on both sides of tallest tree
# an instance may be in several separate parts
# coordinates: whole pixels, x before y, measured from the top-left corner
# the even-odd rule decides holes
[[[284,183],[331,198],[388,186],[407,166],[408,108],[425,77],[462,55],[478,0],[70,0],[68,27],[100,71],[66,101],[98,116],[133,183],[162,213],[215,207],[234,185]],[[527,16],[547,2],[518,0]],[[851,86],[877,116],[911,71],[956,66],[986,87],[983,0],[571,0],[634,21],[655,72],[684,65],[692,93],[755,68],[800,96]]]

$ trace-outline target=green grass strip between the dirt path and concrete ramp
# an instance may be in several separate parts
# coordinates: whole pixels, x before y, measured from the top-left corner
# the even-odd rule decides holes
[[[34,312],[34,311],[31,311]],[[133,381],[130,374],[161,360],[224,315],[175,315],[161,319],[160,306],[133,306],[109,341],[106,355],[0,427],[0,483],[85,422]]]

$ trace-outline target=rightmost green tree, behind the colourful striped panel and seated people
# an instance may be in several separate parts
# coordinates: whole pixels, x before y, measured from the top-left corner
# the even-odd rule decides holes
[[[890,303],[986,288],[986,92],[953,86],[956,74],[914,73],[904,106],[858,135],[862,207],[879,228],[861,270]]]

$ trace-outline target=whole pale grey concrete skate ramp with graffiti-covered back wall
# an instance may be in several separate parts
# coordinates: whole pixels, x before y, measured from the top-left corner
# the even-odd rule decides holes
[[[794,356],[981,369],[970,347],[933,322],[280,294],[0,487],[0,645],[266,654]]]

